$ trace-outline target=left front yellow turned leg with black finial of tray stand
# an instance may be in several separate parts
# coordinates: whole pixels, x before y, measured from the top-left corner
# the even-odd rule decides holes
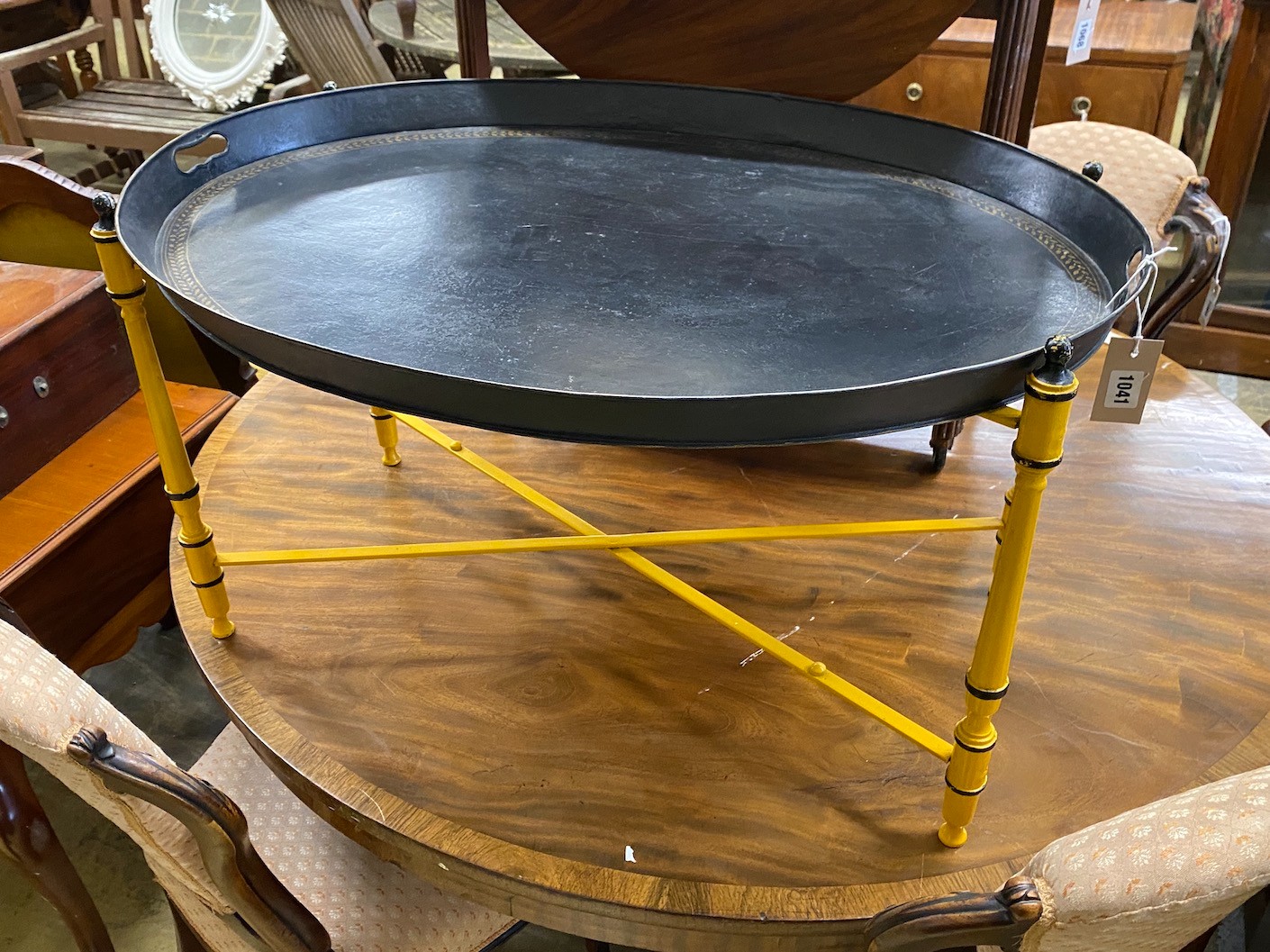
[[[105,274],[105,289],[118,305],[123,317],[132,359],[137,366],[141,395],[146,401],[146,414],[155,434],[164,489],[180,520],[177,539],[185,553],[189,580],[198,590],[203,612],[212,619],[212,635],[227,638],[234,633],[234,622],[229,618],[230,599],[225,593],[225,572],[221,571],[216,557],[212,531],[199,513],[198,482],[194,481],[194,472],[189,466],[189,454],[185,453],[185,443],[180,438],[180,426],[177,425],[177,414],[168,397],[159,354],[155,352],[154,338],[146,321],[146,307],[142,302],[146,282],[137,265],[128,258],[128,253],[123,250],[114,231],[114,198],[98,195],[93,199],[93,207],[100,216],[93,227],[93,240],[97,242],[102,272]]]

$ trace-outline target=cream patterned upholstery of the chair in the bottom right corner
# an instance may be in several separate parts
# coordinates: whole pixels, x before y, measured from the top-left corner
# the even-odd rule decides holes
[[[1270,767],[1063,836],[1024,872],[1045,906],[1024,952],[1180,949],[1270,883]]]

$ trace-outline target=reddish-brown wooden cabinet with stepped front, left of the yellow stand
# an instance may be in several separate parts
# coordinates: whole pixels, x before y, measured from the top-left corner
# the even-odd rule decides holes
[[[83,670],[171,600],[171,505],[100,274],[0,261],[0,595]],[[168,393],[190,453],[235,402]]]

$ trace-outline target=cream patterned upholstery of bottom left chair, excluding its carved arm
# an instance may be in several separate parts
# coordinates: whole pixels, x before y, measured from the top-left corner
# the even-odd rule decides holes
[[[66,754],[80,727],[171,760],[84,680],[0,621],[0,740],[38,762],[145,850],[155,878],[213,952],[259,952],[235,925],[198,848],[166,812],[108,791]],[[321,920],[335,952],[474,952],[514,925],[415,880],[318,819],[227,727],[194,773],[237,801],[251,842],[278,878]]]

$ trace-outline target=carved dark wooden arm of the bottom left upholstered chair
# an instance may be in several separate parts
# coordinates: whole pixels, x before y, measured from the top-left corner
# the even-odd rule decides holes
[[[116,746],[100,727],[84,727],[67,753],[116,793],[154,803],[194,836],[203,866],[239,918],[277,952],[330,952],[320,922],[278,882],[248,836],[237,803],[216,787],[154,758]]]

